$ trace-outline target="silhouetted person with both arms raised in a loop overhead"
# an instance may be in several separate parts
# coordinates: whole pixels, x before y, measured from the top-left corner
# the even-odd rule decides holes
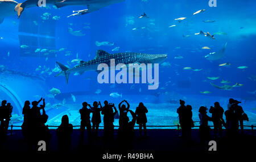
[[[127,108],[126,108],[125,104],[122,104],[123,102],[125,102],[127,104]],[[121,104],[122,104],[122,106],[121,106]],[[119,115],[119,128],[120,129],[122,129],[124,124],[129,122],[129,117],[127,116],[129,108],[130,108],[130,105],[126,100],[121,101],[121,103],[119,103],[119,105],[118,105],[119,114],[120,114]]]

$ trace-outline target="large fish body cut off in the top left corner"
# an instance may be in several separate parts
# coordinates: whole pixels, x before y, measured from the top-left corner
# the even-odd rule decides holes
[[[15,15],[14,7],[18,2],[12,0],[0,0],[0,24],[7,16]]]

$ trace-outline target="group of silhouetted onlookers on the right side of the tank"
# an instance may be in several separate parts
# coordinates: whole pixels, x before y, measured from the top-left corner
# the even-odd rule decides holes
[[[214,138],[222,137],[222,126],[226,129],[227,137],[235,137],[238,134],[239,126],[241,128],[241,133],[243,133],[243,121],[249,121],[247,114],[243,112],[240,101],[229,99],[228,110],[224,112],[224,109],[220,106],[220,103],[214,103],[214,106],[210,106],[209,113],[212,117],[207,115],[208,108],[206,106],[201,106],[199,108],[199,137],[201,143],[207,142],[210,137],[210,127],[208,121],[213,122],[213,133]],[[179,123],[181,126],[181,137],[191,138],[191,128],[194,127],[194,121],[192,120],[192,106],[185,106],[185,101],[180,100],[180,107],[177,109],[179,114]],[[223,114],[226,116],[226,122],[223,119]]]

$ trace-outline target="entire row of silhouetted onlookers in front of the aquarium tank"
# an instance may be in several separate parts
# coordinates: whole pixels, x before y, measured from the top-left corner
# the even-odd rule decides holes
[[[40,104],[42,103],[43,104]],[[214,106],[210,106],[209,113],[212,117],[207,115],[207,107],[201,106],[199,108],[199,137],[201,143],[207,142],[210,137],[210,127],[208,126],[208,121],[212,121],[214,125],[214,138],[222,137],[222,126],[226,129],[226,136],[232,137],[238,133],[239,126],[241,127],[241,132],[243,133],[243,121],[249,121],[247,115],[243,112],[240,105],[241,102],[229,99],[228,109],[224,112],[224,109],[220,106],[220,103],[214,103]],[[49,143],[51,139],[51,133],[46,126],[48,116],[46,110],[44,109],[46,103],[43,98],[39,101],[32,101],[32,108],[30,106],[30,101],[25,101],[22,114],[24,115],[24,121],[22,124],[22,134],[24,139],[28,144],[28,150],[36,150],[39,140],[43,140]],[[105,144],[110,144],[114,139],[114,120],[119,118],[119,129],[117,133],[117,140],[120,148],[133,148],[133,140],[135,137],[134,125],[137,122],[139,125],[139,135],[142,137],[147,136],[147,117],[148,112],[146,106],[143,103],[139,103],[135,112],[130,110],[130,104],[123,100],[118,105],[119,113],[117,108],[113,103],[108,103],[104,101],[104,106],[101,105],[100,101],[94,101],[93,105],[84,102],[82,103],[82,108],[79,110],[81,115],[81,125],[80,125],[80,141],[79,144],[84,143],[84,133],[85,129],[87,132],[88,141],[98,138],[98,128],[101,121],[101,114],[104,122],[104,142]],[[41,113],[42,110],[42,113]],[[9,121],[11,118],[11,113],[13,112],[13,106],[7,103],[6,100],[2,101],[0,106],[0,135],[1,138],[7,137],[7,130],[9,127]],[[92,120],[90,120],[90,114],[92,113]],[[131,119],[128,117],[128,113],[131,115]],[[181,136],[185,139],[191,139],[191,128],[195,127],[195,122],[192,120],[192,106],[185,105],[185,101],[180,100],[180,106],[177,108],[177,113],[179,114],[179,124],[181,127]],[[223,119],[223,114],[226,116],[226,122]],[[92,125],[91,125],[92,123]],[[142,131],[143,127],[143,131]],[[56,130],[56,135],[58,138],[58,148],[61,151],[70,151],[72,145],[72,135],[73,125],[69,123],[69,118],[65,114],[61,118],[61,124]],[[48,146],[48,144],[46,145]]]

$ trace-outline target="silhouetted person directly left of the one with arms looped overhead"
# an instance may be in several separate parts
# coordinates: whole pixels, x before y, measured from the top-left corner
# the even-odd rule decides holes
[[[113,138],[114,137],[114,116],[117,114],[117,108],[113,103],[108,103],[108,101],[104,101],[104,106],[102,108],[101,114],[104,115],[104,138]],[[115,111],[113,111],[113,108]]]

